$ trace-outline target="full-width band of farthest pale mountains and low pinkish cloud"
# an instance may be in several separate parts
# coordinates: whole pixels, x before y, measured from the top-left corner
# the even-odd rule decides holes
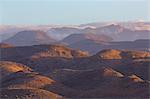
[[[0,37],[4,41],[21,31],[44,31],[56,40],[62,40],[71,34],[94,33],[110,36],[115,41],[133,41],[148,39],[149,22],[102,22],[76,26],[37,25],[37,26],[0,26]]]

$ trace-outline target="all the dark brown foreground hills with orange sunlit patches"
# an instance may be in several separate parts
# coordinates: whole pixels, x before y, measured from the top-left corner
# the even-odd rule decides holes
[[[150,52],[60,45],[1,48],[1,97],[148,98]],[[12,62],[13,61],[13,62]],[[113,90],[113,91],[112,91]]]

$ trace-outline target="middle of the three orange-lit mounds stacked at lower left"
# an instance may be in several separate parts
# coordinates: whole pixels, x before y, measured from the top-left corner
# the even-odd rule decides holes
[[[18,71],[2,79],[3,88],[43,88],[55,81],[36,72]]]

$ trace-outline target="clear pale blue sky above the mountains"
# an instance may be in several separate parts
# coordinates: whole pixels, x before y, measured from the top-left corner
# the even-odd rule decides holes
[[[149,0],[0,0],[0,24],[150,21]]]

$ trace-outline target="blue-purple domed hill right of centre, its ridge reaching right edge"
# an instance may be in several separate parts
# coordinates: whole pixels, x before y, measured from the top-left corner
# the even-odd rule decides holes
[[[127,50],[149,50],[149,39],[139,39],[135,41],[112,41],[112,42],[97,42],[94,40],[81,40],[68,45],[74,49],[88,51],[90,54],[95,54],[103,49],[127,49]]]

